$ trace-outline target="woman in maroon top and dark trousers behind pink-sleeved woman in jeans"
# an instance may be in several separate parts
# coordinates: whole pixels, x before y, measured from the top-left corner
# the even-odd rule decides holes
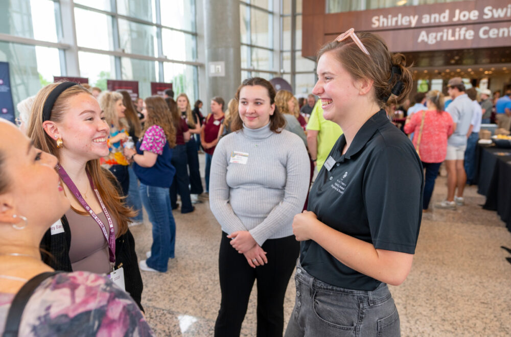
[[[176,147],[173,150],[171,163],[176,168],[176,175],[170,186],[170,205],[177,208],[177,193],[181,196],[181,213],[190,213],[195,210],[190,198],[190,177],[188,176],[188,156],[186,142],[190,140],[190,130],[187,122],[181,118],[174,99],[165,99],[169,106],[170,115],[176,129]]]

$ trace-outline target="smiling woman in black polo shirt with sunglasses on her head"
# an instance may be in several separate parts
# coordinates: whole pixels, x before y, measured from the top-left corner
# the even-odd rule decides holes
[[[344,133],[312,186],[308,210],[294,217],[301,247],[286,336],[399,336],[387,283],[401,284],[411,268],[423,174],[384,108],[408,97],[411,74],[379,36],[353,30],[322,47],[317,73],[313,93],[323,116]]]

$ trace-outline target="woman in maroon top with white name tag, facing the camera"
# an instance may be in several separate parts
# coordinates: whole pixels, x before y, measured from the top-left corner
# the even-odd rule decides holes
[[[210,168],[213,152],[220,139],[220,126],[224,119],[224,100],[221,97],[214,97],[211,100],[211,113],[207,115],[206,121],[200,129],[200,143],[206,153],[206,193],[210,191]]]

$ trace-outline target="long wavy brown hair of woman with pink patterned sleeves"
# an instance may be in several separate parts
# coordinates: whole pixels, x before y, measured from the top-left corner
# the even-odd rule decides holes
[[[160,96],[151,96],[146,98],[147,119],[144,127],[144,133],[153,125],[157,125],[165,132],[167,143],[170,148],[176,146],[176,128],[172,122],[171,113],[167,102]]]

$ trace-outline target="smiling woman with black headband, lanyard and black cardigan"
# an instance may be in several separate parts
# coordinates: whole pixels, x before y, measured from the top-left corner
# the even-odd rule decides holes
[[[28,130],[37,149],[58,159],[69,209],[45,233],[44,262],[55,270],[109,275],[142,308],[142,278],[128,229],[133,212],[120,186],[101,168],[109,127],[98,101],[73,82],[52,83],[37,93]]]

